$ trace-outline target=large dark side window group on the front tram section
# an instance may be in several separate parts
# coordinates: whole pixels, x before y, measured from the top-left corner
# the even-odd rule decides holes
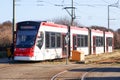
[[[46,32],[46,48],[61,47],[61,34],[55,32]]]

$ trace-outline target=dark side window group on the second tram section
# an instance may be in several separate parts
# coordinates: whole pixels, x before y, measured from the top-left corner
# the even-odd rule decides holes
[[[77,35],[77,44],[78,44],[78,47],[87,47],[88,46],[88,36],[87,35]]]

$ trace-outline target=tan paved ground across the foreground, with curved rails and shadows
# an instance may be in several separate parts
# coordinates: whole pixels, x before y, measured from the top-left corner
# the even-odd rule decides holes
[[[0,80],[120,80],[120,65],[2,60]]]

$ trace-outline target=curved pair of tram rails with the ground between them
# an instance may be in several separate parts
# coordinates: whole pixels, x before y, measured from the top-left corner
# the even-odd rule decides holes
[[[84,80],[85,75],[92,70],[94,70],[94,68],[76,67],[55,74],[51,80]]]

